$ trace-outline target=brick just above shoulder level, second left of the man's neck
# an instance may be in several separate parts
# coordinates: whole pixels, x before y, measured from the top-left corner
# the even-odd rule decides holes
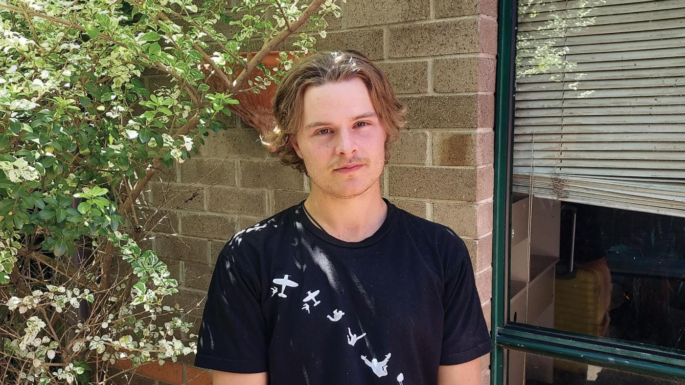
[[[216,213],[266,215],[266,190],[209,187],[207,209]]]

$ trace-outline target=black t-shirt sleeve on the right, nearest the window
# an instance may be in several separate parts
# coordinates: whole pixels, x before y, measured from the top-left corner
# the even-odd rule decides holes
[[[456,240],[451,254],[443,294],[445,322],[441,365],[469,362],[493,349],[475,286],[471,258],[461,239]]]

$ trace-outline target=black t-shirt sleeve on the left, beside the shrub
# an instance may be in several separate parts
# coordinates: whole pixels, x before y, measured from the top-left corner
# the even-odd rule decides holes
[[[230,243],[214,266],[195,366],[232,373],[269,370],[268,334],[257,272]]]

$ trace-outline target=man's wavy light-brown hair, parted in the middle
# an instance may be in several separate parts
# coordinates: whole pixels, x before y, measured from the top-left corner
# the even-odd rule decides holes
[[[304,92],[310,85],[338,83],[360,78],[369,90],[371,103],[379,122],[385,128],[385,163],[390,159],[390,145],[406,126],[405,105],[395,96],[386,75],[373,62],[358,51],[321,51],[295,63],[278,85],[273,100],[276,126],[262,137],[262,144],[275,147],[275,153],[284,165],[307,173],[304,160],[297,156],[290,143],[302,124]]]

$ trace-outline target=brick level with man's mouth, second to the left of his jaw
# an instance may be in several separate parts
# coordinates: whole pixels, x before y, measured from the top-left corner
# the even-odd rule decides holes
[[[236,185],[236,162],[227,159],[192,158],[181,165],[183,183]]]

